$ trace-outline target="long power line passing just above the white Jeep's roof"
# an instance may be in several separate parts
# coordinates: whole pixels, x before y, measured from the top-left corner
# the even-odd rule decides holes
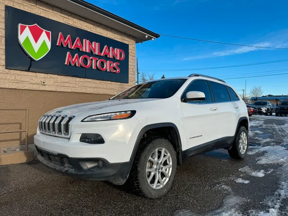
[[[170,72],[170,71],[189,71],[189,70],[208,70],[208,69],[218,69],[218,68],[227,68],[227,67],[242,67],[242,66],[251,66],[251,65],[258,65],[258,64],[270,64],[270,63],[277,63],[288,61],[288,58],[273,60],[273,61],[262,61],[250,64],[235,64],[235,65],[227,65],[227,66],[219,66],[219,67],[202,67],[202,68],[191,68],[191,69],[139,69],[142,72]]]

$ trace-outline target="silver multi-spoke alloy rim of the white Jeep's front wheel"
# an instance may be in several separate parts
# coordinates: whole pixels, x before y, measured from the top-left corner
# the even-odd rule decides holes
[[[172,158],[165,148],[155,149],[146,164],[146,179],[150,187],[160,189],[169,181],[172,173]]]

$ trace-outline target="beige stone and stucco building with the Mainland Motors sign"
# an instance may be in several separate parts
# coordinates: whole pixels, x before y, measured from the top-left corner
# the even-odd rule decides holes
[[[82,0],[0,0],[0,108],[29,109],[33,143],[47,111],[135,85],[135,44],[159,36]],[[26,127],[25,111],[0,116],[0,131]],[[0,134],[0,148],[24,138]]]

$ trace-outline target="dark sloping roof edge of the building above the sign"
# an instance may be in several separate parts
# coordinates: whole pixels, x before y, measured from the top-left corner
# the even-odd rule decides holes
[[[87,2],[87,1],[83,1],[83,0],[69,0],[69,1],[74,2],[76,4],[79,4],[79,5],[83,6],[83,7],[87,7],[90,10],[94,10],[95,12],[103,14],[104,16],[107,16],[110,19],[115,19],[118,22],[122,22],[123,24],[125,24],[127,26],[130,26],[130,27],[132,27],[134,29],[137,29],[138,31],[144,32],[147,35],[152,36],[153,38],[159,38],[160,37],[160,35],[155,33],[155,32],[152,32],[152,31],[150,31],[148,29],[145,29],[145,28],[143,28],[141,26],[138,26],[137,24],[135,24],[133,22],[130,22],[127,19],[124,19],[124,18],[122,18],[120,16],[117,16],[116,14],[111,13],[111,12],[109,12],[107,10],[104,10],[101,7],[98,7],[98,6],[96,6],[94,4],[91,4],[91,3]]]

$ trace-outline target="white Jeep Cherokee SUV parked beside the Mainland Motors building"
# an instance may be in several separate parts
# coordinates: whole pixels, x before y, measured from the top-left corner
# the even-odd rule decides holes
[[[244,101],[221,79],[147,81],[107,101],[46,113],[34,137],[38,159],[81,179],[124,184],[150,198],[166,193],[186,158],[224,148],[242,159],[248,148]]]

